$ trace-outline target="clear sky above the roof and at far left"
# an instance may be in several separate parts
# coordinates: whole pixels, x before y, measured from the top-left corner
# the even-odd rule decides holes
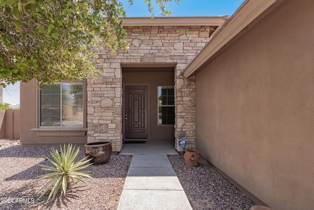
[[[154,1],[154,0],[152,0]],[[172,0],[174,1],[174,0]],[[127,17],[150,17],[144,0],[133,0],[131,6],[129,0],[121,0]],[[166,3],[166,9],[171,11],[170,17],[184,16],[231,16],[240,6],[243,0],[180,0]],[[153,3],[155,17],[160,17],[156,4]],[[16,105],[20,103],[20,83],[10,85],[3,90],[3,103]]]

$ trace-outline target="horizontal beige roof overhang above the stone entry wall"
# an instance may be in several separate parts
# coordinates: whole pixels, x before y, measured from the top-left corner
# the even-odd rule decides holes
[[[121,18],[123,26],[218,26],[220,27],[229,15],[212,17],[130,17]]]

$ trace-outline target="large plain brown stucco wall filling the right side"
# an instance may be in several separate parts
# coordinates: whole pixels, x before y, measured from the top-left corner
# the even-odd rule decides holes
[[[313,8],[285,0],[196,72],[197,149],[276,210],[314,204]]]

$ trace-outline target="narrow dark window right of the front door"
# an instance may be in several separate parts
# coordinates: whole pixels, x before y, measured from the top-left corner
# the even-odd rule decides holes
[[[158,125],[175,124],[175,89],[158,87]]]

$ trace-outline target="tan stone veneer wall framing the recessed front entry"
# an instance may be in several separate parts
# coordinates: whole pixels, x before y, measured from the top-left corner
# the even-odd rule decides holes
[[[126,26],[130,48],[112,53],[95,51],[102,73],[87,81],[87,140],[110,140],[113,151],[122,149],[122,67],[138,64],[173,66],[175,84],[176,147],[180,138],[195,148],[195,80],[180,72],[209,41],[209,26]],[[101,63],[105,63],[106,66]]]

